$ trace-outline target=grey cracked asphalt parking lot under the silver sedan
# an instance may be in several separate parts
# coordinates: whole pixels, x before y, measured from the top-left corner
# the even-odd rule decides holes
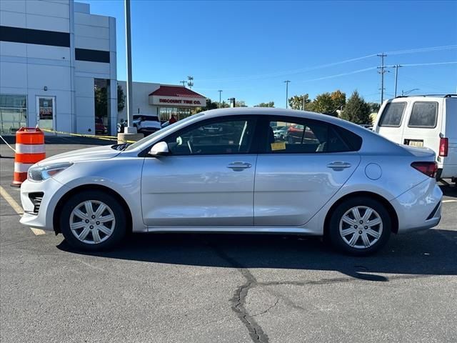
[[[371,257],[241,234],[136,234],[86,254],[19,224],[14,154],[0,154],[1,342],[457,342],[456,187],[438,227]]]

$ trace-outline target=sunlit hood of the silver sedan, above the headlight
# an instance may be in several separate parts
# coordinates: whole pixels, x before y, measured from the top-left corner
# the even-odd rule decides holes
[[[63,154],[54,155],[39,161],[38,164],[56,162],[92,161],[95,159],[112,159],[121,153],[119,150],[111,149],[111,145],[95,146],[94,148],[79,149]]]

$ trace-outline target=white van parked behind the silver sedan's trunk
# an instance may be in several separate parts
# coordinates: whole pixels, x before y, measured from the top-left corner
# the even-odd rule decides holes
[[[397,96],[384,101],[373,131],[436,153],[438,179],[457,182],[457,94]]]

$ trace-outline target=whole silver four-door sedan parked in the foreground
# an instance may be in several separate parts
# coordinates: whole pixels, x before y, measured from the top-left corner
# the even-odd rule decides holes
[[[314,138],[278,141],[277,121]],[[431,149],[332,116],[215,109],[134,144],[34,164],[21,187],[21,223],[92,251],[114,247],[131,230],[318,235],[361,255],[391,233],[438,224],[443,194],[435,175]]]

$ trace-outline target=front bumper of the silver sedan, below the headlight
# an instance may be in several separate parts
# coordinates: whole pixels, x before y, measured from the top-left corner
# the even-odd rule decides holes
[[[53,216],[54,209],[59,199],[69,191],[64,184],[57,182],[52,177],[43,182],[31,182],[26,180],[21,185],[21,203],[24,209],[24,215],[21,217],[21,224],[27,227],[36,227],[44,230],[54,230]],[[39,211],[37,214],[34,202],[29,194],[43,193]]]

